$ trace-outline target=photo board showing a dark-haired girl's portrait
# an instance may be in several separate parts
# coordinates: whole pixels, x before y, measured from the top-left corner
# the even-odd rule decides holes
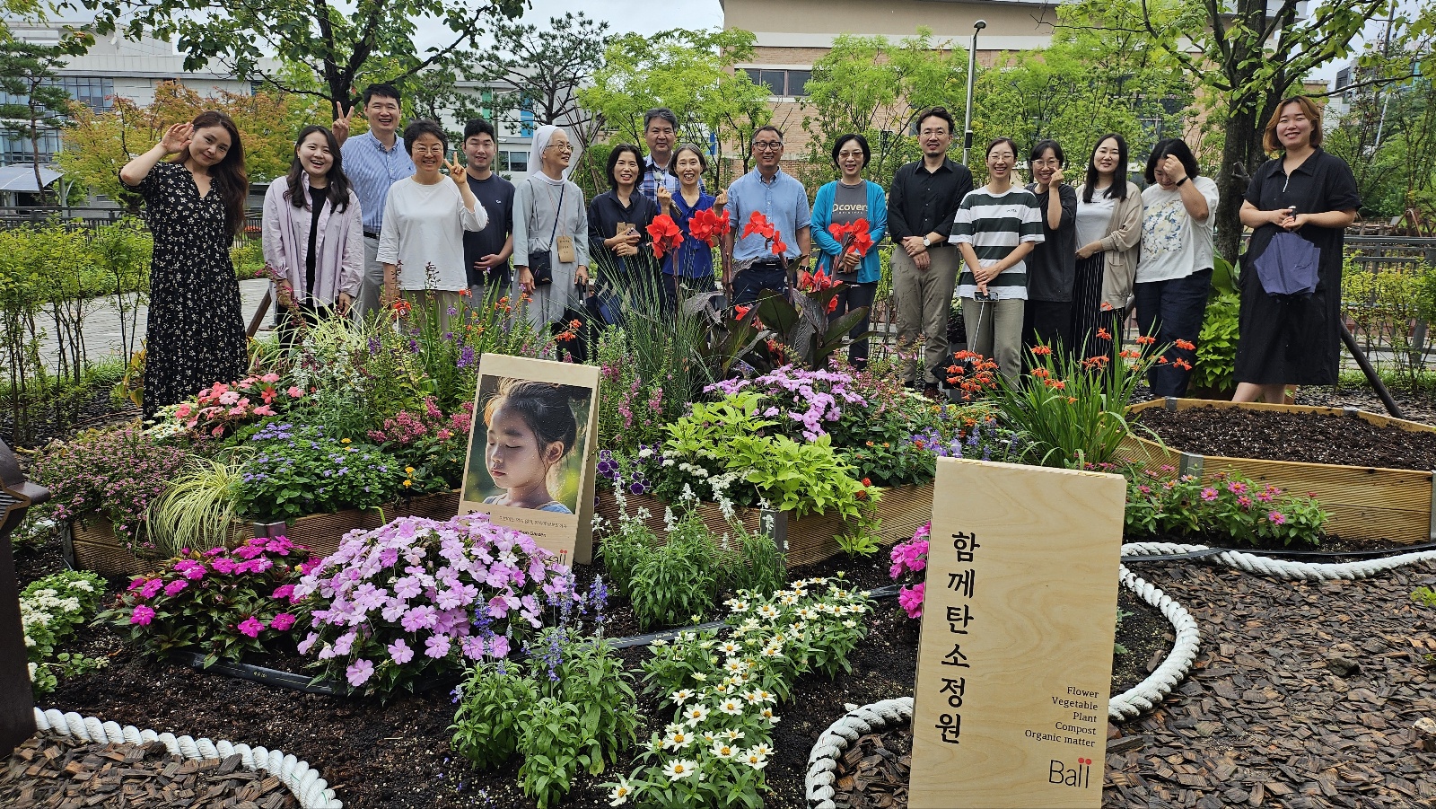
[[[593,559],[599,369],[485,353],[460,513],[521,530],[564,565]]]

